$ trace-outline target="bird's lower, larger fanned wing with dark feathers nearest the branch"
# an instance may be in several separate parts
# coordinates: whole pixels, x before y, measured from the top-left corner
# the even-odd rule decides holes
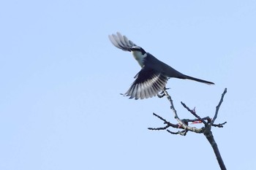
[[[136,80],[132,82],[124,96],[130,96],[129,98],[135,98],[136,100],[156,96],[159,91],[165,88],[167,83],[167,77],[161,72],[145,67],[138,72],[135,78]]]

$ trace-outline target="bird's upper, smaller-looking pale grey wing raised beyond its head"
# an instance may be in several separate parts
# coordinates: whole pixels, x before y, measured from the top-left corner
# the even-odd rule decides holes
[[[120,33],[109,35],[108,38],[113,45],[124,51],[131,51],[130,49],[135,45],[131,40],[127,39],[127,36],[122,36]]]

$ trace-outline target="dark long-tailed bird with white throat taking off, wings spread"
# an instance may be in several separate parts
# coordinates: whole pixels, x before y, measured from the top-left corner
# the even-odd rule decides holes
[[[207,85],[214,85],[214,82],[197,79],[178,72],[173,67],[159,61],[151,53],[147,53],[142,47],[135,45],[127,36],[123,36],[119,32],[108,37],[114,46],[131,52],[141,66],[140,72],[134,77],[135,81],[132,82],[124,96],[129,96],[129,98],[135,98],[136,100],[157,96],[160,91],[165,89],[167,80],[170,78],[194,80]]]

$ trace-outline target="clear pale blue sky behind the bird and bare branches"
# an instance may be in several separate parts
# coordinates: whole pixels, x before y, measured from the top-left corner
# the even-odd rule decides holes
[[[179,117],[213,117],[227,88],[214,138],[227,169],[256,169],[255,17],[249,0],[1,1],[0,169],[219,169],[203,134],[148,130],[176,123],[166,98],[120,95],[140,66],[116,31],[215,82],[170,79]]]

